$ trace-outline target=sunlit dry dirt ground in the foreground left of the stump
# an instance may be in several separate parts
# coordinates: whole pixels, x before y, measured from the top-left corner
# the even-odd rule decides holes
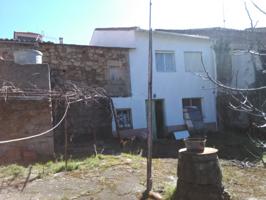
[[[5,200],[70,200],[70,199],[139,199],[145,190],[146,160],[140,156],[104,158],[99,167],[60,172],[27,183],[22,191],[22,177],[3,177],[0,199]],[[154,185],[162,191],[165,183],[176,183],[175,159],[154,160]],[[33,167],[34,169],[34,167]],[[34,171],[34,170],[33,170]],[[31,178],[36,173],[31,174]],[[30,178],[30,179],[31,179]]]

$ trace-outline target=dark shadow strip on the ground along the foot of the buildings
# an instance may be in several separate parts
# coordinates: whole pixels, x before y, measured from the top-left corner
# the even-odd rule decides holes
[[[206,146],[214,147],[219,150],[218,156],[228,160],[248,160],[255,161],[255,155],[262,152],[250,141],[248,136],[242,132],[208,132],[206,134]],[[121,153],[130,153],[146,157],[146,141],[138,138],[128,140],[121,147],[117,138],[97,141],[97,153],[105,155],[119,155]],[[182,140],[172,138],[159,139],[153,142],[153,158],[178,158],[178,150],[184,148]],[[57,148],[57,156],[63,155],[64,147]],[[68,154],[72,157],[86,157],[95,155],[93,143],[69,145]]]

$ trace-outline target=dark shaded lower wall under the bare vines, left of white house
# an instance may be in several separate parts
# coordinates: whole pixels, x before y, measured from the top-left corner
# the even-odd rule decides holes
[[[96,102],[97,101],[97,102]],[[96,140],[112,137],[112,115],[107,99],[98,98],[87,103],[79,102],[69,108],[67,119],[68,142],[75,146]],[[54,102],[57,112],[54,112],[55,122],[59,121],[65,110],[64,102]],[[55,131],[55,150],[64,145],[64,123]],[[96,138],[94,138],[94,134]]]

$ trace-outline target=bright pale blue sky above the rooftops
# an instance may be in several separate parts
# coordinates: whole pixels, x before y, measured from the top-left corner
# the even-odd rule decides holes
[[[37,32],[46,41],[89,44],[94,28],[148,26],[148,0],[1,0],[0,38],[13,31]],[[244,0],[153,0],[153,28],[249,27]],[[266,1],[255,0],[266,10]],[[247,1],[258,26],[266,16]],[[223,9],[224,8],[224,9]],[[223,12],[224,10],[224,12]],[[224,14],[223,14],[224,13]]]

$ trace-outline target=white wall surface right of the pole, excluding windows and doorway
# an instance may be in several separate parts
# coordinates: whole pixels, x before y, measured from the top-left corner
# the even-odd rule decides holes
[[[214,74],[210,42],[202,39],[175,38],[154,35],[154,50],[175,51],[176,72],[156,72],[154,63],[154,93],[165,98],[167,125],[183,124],[182,98],[202,97],[205,122],[216,121],[215,93],[211,83],[185,71],[184,51],[201,51],[206,68]],[[155,60],[154,60],[155,62]],[[163,83],[163,84],[161,84]]]

